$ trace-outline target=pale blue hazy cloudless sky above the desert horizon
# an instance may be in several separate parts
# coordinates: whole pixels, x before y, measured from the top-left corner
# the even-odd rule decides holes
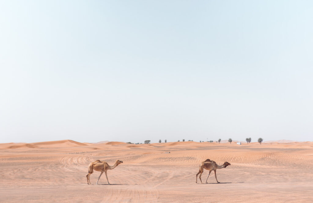
[[[0,143],[313,141],[312,1],[0,1]]]

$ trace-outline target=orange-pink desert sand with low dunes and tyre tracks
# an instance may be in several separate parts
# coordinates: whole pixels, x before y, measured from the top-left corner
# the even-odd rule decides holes
[[[108,170],[112,185],[105,174],[87,185],[97,159],[124,162]],[[214,173],[196,184],[205,159],[231,163],[217,170],[220,184]],[[0,202],[313,202],[312,142],[3,143],[0,166]]]

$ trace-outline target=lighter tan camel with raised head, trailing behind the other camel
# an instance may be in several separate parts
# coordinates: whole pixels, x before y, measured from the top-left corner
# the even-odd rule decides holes
[[[101,171],[101,174],[100,174],[100,176],[99,176],[99,178],[98,178],[98,181],[99,181],[101,175],[103,174],[103,172],[105,172],[106,180],[108,181],[108,184],[111,185],[111,184],[109,183],[108,175],[106,174],[106,171],[107,171],[108,169],[114,169],[116,166],[118,166],[118,164],[121,164],[121,163],[123,163],[123,162],[120,161],[120,160],[116,160],[116,161],[115,161],[115,164],[114,164],[113,166],[110,166],[110,165],[109,165],[108,163],[106,163],[105,161],[96,160],[95,162],[91,162],[91,163],[89,164],[89,166],[88,166],[88,175],[86,175],[88,185],[92,185],[92,184],[90,183],[89,177],[90,177],[90,174],[92,174],[92,173],[94,172],[94,170],[95,170],[95,171]],[[96,183],[97,185],[98,185],[98,181],[97,181],[97,183]]]

